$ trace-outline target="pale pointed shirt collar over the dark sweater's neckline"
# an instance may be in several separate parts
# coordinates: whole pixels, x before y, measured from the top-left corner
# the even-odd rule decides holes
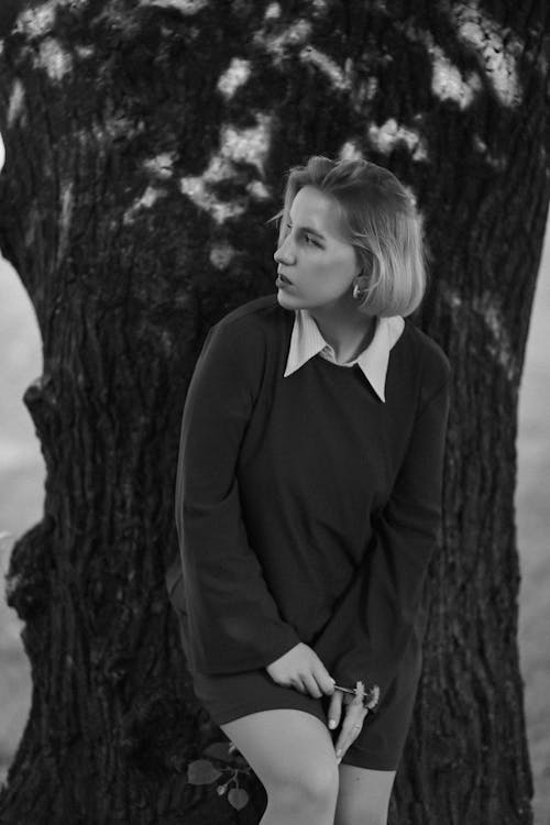
[[[290,337],[290,349],[286,362],[284,377],[299,370],[309,359],[323,351],[330,361],[334,361],[334,351],[321,334],[317,321],[307,309],[295,309],[293,333]],[[388,318],[376,317],[374,336],[363,352],[348,362],[358,364],[371,383],[376,395],[385,402],[385,384],[389,351],[397,342],[405,328],[405,320],[400,315]]]

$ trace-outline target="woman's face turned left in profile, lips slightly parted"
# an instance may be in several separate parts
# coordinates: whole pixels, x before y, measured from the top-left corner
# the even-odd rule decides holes
[[[341,234],[334,201],[316,187],[304,186],[293,200],[285,231],[273,255],[278,263],[279,304],[287,309],[310,309],[333,305],[344,296],[349,299],[361,266],[355,250]]]

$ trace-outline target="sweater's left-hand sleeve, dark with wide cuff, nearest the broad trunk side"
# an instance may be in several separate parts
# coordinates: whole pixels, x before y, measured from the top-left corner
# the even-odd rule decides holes
[[[190,664],[202,673],[265,667],[300,641],[264,580],[239,497],[239,450],[264,350],[246,318],[212,327],[184,406],[175,493],[183,586],[174,593]]]

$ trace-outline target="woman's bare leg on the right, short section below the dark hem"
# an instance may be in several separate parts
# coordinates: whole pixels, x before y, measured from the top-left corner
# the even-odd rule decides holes
[[[334,825],[385,825],[395,773],[340,765]]]

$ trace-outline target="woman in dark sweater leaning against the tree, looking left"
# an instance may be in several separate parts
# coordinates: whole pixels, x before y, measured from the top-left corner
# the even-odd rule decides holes
[[[450,364],[405,318],[425,255],[392,173],[314,156],[279,217],[277,294],[209,330],[189,385],[167,587],[263,825],[373,825],[420,674]]]

